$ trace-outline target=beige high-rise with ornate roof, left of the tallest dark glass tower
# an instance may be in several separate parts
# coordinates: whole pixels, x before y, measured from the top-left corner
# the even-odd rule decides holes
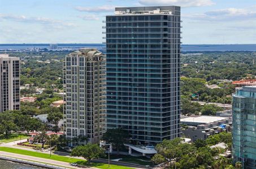
[[[96,48],[83,48],[64,61],[64,127],[66,136],[85,136],[99,143],[106,129],[106,57]]]

